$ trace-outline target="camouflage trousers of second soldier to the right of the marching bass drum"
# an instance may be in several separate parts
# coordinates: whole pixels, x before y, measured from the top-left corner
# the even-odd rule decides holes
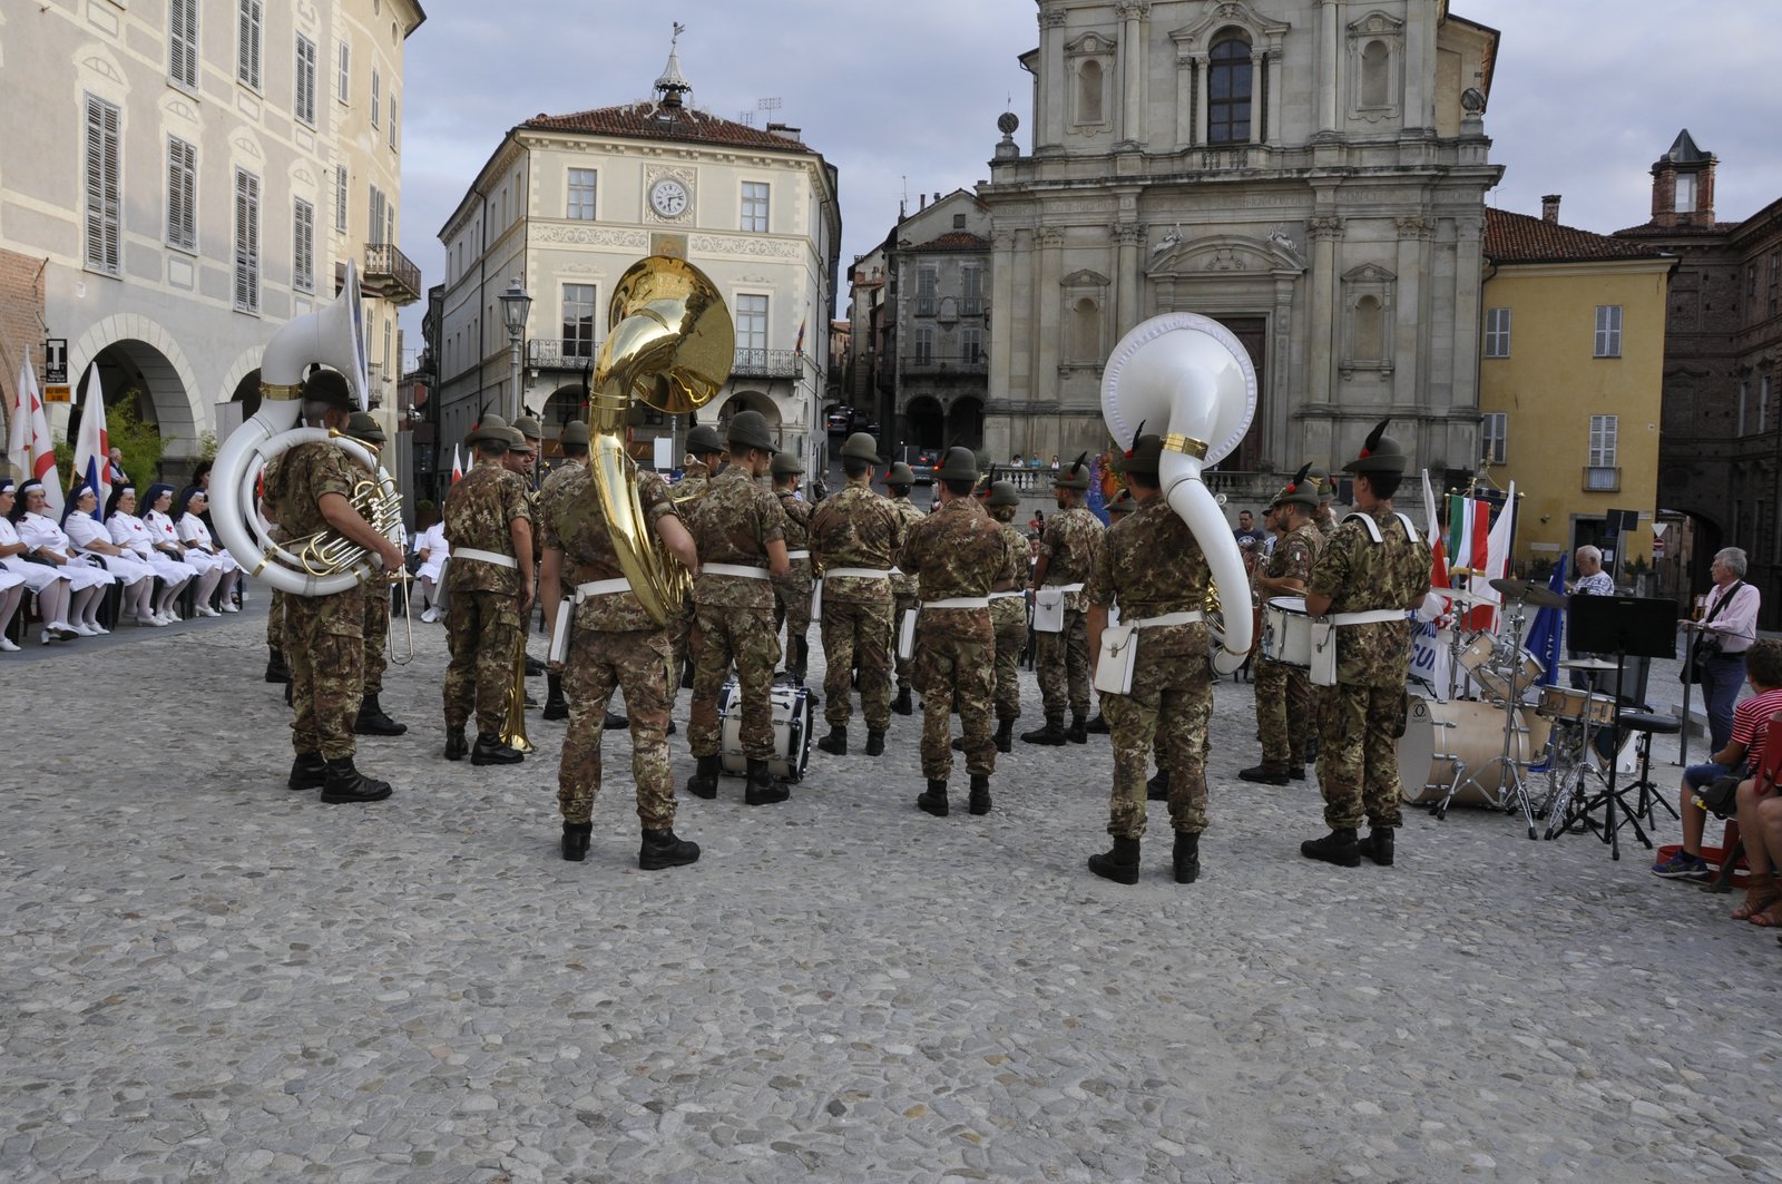
[[[996,772],[991,699],[996,695],[996,635],[987,608],[927,608],[916,622],[912,679],[921,692],[921,776],[953,770],[953,706],[966,729],[966,772]]]

